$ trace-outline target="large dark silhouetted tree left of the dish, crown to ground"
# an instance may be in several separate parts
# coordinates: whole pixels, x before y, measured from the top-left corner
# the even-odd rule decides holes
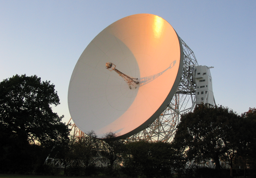
[[[0,82],[0,172],[32,171],[43,164],[48,148],[69,140],[63,116],[51,109],[58,104],[54,85],[36,75]]]

